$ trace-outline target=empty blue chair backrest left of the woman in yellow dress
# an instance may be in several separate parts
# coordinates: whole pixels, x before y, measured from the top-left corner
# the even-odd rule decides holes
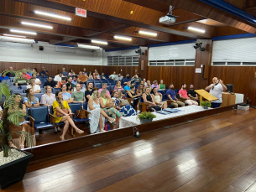
[[[31,107],[30,115],[34,123],[47,122],[48,106]]]

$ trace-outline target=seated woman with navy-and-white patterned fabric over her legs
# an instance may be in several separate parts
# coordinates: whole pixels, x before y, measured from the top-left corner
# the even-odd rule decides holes
[[[119,110],[119,112],[121,113],[121,115],[123,115],[123,117],[130,117],[130,116],[136,116],[137,112],[133,109],[133,106],[131,105],[122,105],[122,101],[121,99],[121,91],[115,91],[114,92],[114,96],[112,97],[112,99],[115,99],[116,101],[116,108]]]

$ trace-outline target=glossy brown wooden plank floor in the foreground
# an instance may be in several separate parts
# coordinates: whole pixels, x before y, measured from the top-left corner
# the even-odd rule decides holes
[[[5,191],[256,191],[256,110],[230,111],[29,166]]]

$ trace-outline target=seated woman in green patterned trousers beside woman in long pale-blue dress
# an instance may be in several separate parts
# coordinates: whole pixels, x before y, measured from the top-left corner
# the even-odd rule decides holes
[[[123,117],[120,114],[120,112],[118,112],[118,110],[116,110],[113,107],[114,103],[112,102],[111,97],[109,97],[107,95],[106,90],[101,91],[101,97],[100,97],[99,101],[100,101],[100,105],[101,105],[103,111],[107,113],[107,116],[112,117],[113,119],[116,119],[117,116],[119,118]],[[112,104],[112,106],[111,106],[111,104]],[[112,126],[113,126],[113,129],[116,129],[116,122],[112,122]]]

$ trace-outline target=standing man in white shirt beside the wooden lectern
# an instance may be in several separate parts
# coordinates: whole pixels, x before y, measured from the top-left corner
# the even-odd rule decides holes
[[[217,108],[222,105],[222,92],[227,90],[222,80],[218,80],[217,77],[213,77],[212,84],[206,87],[206,91],[210,91],[212,96],[217,97],[216,101],[212,101],[212,108]]]

